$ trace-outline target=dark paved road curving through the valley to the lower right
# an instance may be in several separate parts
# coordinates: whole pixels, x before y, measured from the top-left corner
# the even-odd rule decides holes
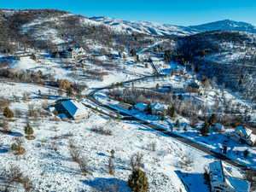
[[[154,77],[155,76],[152,76],[151,78],[154,78]],[[133,80],[125,81],[125,82],[122,82],[122,83],[123,84],[131,83],[131,82],[135,82],[137,80],[142,80],[142,79],[146,79],[146,78],[147,77],[144,77],[144,78],[141,78],[141,79],[133,79]],[[150,77],[148,77],[148,78],[150,78]],[[100,90],[105,90],[105,89],[112,89],[112,87],[107,86],[107,87],[102,87],[100,89],[92,90],[90,92],[89,96],[88,96],[88,99],[90,99],[91,102],[96,103],[96,105],[101,106],[102,108],[108,108],[108,110],[111,110],[111,111],[117,113],[118,112],[117,110],[108,107],[108,105],[102,104],[102,102],[97,101],[96,98],[94,97],[96,92],[98,92]],[[107,113],[104,113],[104,114],[107,114]],[[160,132],[166,134],[169,137],[175,138],[178,141],[180,141],[182,143],[185,143],[185,144],[189,145],[192,148],[196,148],[196,149],[198,149],[198,150],[200,150],[200,151],[202,151],[202,152],[204,152],[206,154],[212,155],[213,157],[217,158],[218,160],[223,160],[223,161],[229,163],[232,166],[236,166],[236,167],[240,168],[241,170],[252,170],[252,168],[244,166],[244,165],[241,165],[240,163],[236,162],[235,160],[230,160],[230,158],[224,156],[224,154],[220,154],[218,152],[212,151],[209,148],[205,148],[205,147],[203,147],[202,145],[200,145],[198,143],[190,141],[188,138],[181,137],[181,136],[179,136],[179,135],[177,135],[177,134],[175,134],[175,133],[173,133],[171,131],[162,130],[162,129],[160,129],[159,127],[157,127],[155,125],[149,124],[147,121],[144,121],[144,120],[141,120],[141,119],[137,119],[135,117],[131,117],[131,115],[129,115],[127,113],[120,113],[120,114],[125,116],[124,120],[134,120],[134,121],[137,121],[137,123],[146,125],[146,126],[152,128],[152,129],[154,129],[155,131],[160,131]],[[112,116],[113,117],[113,115],[108,115],[108,116]]]

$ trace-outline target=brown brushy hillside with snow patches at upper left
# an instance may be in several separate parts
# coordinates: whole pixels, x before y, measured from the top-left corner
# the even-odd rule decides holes
[[[26,48],[52,51],[75,46],[88,52],[109,53],[140,49],[156,39],[55,9],[0,9],[0,27],[3,29],[0,52],[3,53]]]

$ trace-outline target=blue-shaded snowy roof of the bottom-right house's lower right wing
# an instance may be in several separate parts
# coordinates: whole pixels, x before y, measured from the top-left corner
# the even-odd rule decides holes
[[[250,183],[247,180],[236,177],[225,177],[236,192],[249,192]]]

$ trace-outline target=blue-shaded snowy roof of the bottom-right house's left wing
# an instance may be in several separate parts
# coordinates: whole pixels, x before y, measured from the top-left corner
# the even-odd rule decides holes
[[[211,183],[224,183],[224,172],[220,160],[209,164]]]

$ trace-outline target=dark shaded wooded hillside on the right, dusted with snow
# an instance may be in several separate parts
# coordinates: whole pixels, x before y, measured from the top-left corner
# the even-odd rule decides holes
[[[195,73],[214,79],[256,102],[256,34],[202,32],[177,39],[177,53]]]

